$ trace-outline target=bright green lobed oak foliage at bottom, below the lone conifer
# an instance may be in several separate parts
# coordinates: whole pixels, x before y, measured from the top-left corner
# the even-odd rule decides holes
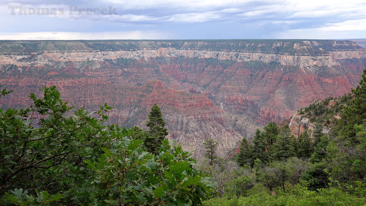
[[[97,198],[119,205],[200,205],[214,184],[202,176],[182,147],[163,141],[158,155],[141,150],[141,140],[122,137],[97,162],[87,161],[98,174],[92,184]]]

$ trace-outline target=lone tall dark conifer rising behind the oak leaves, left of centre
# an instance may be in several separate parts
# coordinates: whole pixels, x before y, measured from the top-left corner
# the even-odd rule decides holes
[[[163,119],[163,114],[160,111],[160,107],[156,103],[154,103],[151,108],[148,119],[146,126],[150,128],[146,132],[144,145],[147,151],[158,154],[162,141],[169,133],[168,129],[165,128],[165,121]]]

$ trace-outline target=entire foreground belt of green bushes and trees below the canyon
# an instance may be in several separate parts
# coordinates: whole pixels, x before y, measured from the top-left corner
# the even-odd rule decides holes
[[[0,96],[10,92],[3,87]],[[318,122],[312,138],[311,131],[296,138],[287,125],[270,122],[251,142],[243,137],[232,160],[215,155],[213,139],[205,140],[199,161],[169,143],[157,104],[143,131],[105,125],[107,104],[75,110],[56,87],[42,92],[30,93],[27,108],[0,110],[4,205],[366,204],[366,70],[341,107],[299,111]],[[330,124],[329,115],[340,111]],[[324,121],[332,126],[328,135]]]

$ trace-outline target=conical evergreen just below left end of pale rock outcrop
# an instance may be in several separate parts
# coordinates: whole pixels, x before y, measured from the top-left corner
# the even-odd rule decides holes
[[[282,128],[273,149],[273,158],[275,160],[285,160],[296,155],[291,144],[291,131],[288,126],[284,126],[284,128]]]

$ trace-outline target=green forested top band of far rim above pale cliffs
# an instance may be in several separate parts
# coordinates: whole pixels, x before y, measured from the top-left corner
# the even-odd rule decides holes
[[[146,42],[150,42],[147,44]],[[314,43],[315,42],[315,43]],[[135,51],[139,49],[198,49],[263,52],[286,55],[326,55],[328,51],[362,49],[351,41],[311,39],[206,39],[206,40],[0,40],[3,52]],[[294,44],[299,47],[294,48]],[[321,48],[321,49],[320,49]]]

